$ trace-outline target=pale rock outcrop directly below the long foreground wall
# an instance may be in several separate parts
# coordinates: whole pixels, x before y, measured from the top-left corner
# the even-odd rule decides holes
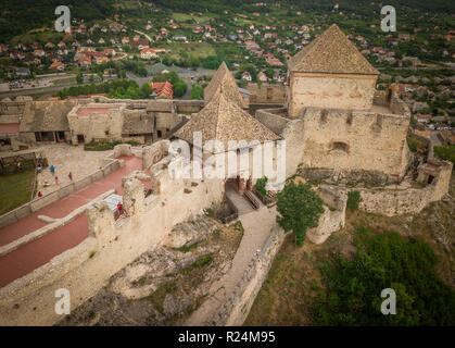
[[[181,223],[174,227],[166,237],[164,245],[170,248],[181,248],[186,245],[194,244],[212,233],[215,224],[207,219],[198,216],[189,223]]]

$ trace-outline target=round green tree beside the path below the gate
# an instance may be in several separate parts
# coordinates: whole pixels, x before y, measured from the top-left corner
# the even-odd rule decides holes
[[[278,224],[285,232],[295,235],[296,245],[301,246],[308,228],[317,227],[324,212],[323,200],[312,190],[311,185],[289,183],[278,194]]]

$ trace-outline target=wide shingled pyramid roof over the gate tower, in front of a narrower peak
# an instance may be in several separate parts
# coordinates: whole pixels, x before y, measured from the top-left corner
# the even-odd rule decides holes
[[[202,133],[202,141],[217,139],[228,149],[229,140],[278,140],[280,137],[231,101],[224,92],[212,100],[186,125],[175,133],[177,138],[193,142],[193,133]]]

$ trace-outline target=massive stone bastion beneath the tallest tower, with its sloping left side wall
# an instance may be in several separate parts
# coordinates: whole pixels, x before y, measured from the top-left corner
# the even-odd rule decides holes
[[[301,165],[332,176],[369,172],[399,182],[408,166],[410,114],[395,98],[389,105],[390,113],[306,108],[298,119],[281,116],[283,109],[261,110],[255,116],[287,141],[287,176]],[[393,113],[399,111],[405,113]]]

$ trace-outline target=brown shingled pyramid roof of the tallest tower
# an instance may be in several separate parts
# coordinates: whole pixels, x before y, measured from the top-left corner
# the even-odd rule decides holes
[[[337,24],[289,59],[292,72],[379,75]]]

